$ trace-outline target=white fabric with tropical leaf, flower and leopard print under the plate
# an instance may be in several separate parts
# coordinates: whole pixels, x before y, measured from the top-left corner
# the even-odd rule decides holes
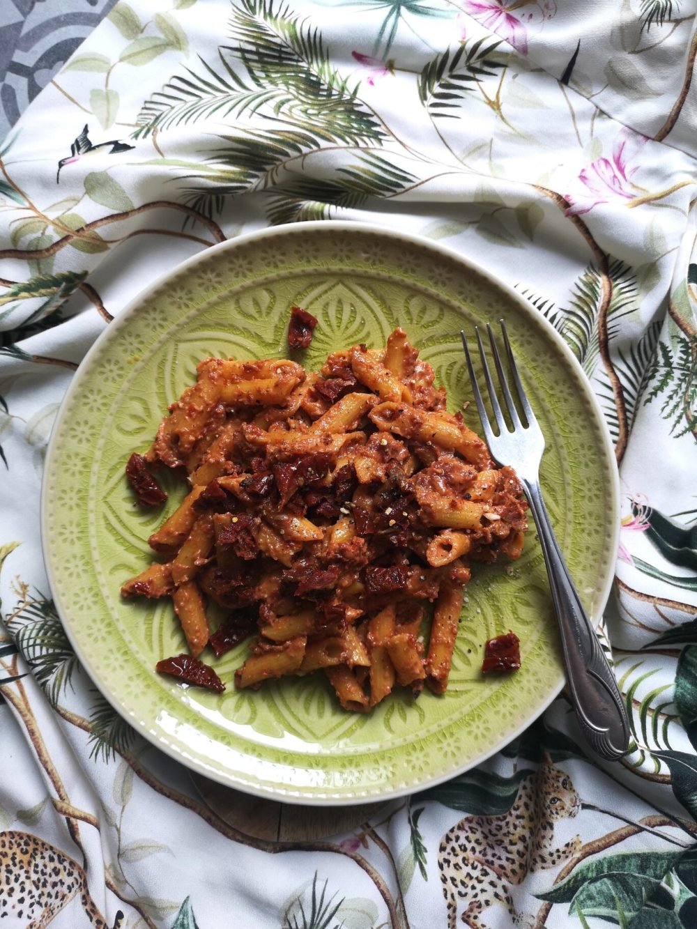
[[[130,0],[33,100],[0,150],[8,925],[695,925],[696,47],[685,2]],[[583,365],[620,465],[603,635],[632,718],[621,763],[585,754],[561,696],[359,830],[262,842],[81,669],[39,535],[75,368],[182,259],[308,219],[474,258]],[[56,887],[33,881],[51,868]]]

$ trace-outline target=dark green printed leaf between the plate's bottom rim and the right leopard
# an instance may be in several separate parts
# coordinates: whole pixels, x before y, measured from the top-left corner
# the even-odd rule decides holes
[[[513,805],[520,781],[530,774],[533,774],[530,768],[520,768],[510,778],[504,778],[493,771],[473,768],[459,778],[417,793],[414,803],[436,800],[443,806],[472,816],[501,816]]]

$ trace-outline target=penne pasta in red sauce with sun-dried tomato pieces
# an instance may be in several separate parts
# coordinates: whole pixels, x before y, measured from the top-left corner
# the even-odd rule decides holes
[[[237,687],[320,672],[361,712],[398,685],[442,693],[471,565],[517,558],[527,529],[515,472],[445,402],[401,329],[320,372],[202,361],[126,467],[145,505],[165,499],[154,468],[188,486],[149,539],[159,560],[122,588],[172,597],[189,654],[158,670],[221,690],[205,650],[254,636]],[[228,614],[216,630],[210,601]]]

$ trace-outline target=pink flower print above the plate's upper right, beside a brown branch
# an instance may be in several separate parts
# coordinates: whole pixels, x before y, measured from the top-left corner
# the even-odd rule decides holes
[[[634,200],[637,190],[630,183],[630,179],[637,173],[638,164],[630,168],[628,162],[630,156],[636,154],[646,140],[646,136],[622,129],[615,139],[612,158],[597,158],[578,176],[585,189],[590,191],[590,195],[585,191],[565,195],[572,204],[566,215],[579,216],[598,206],[598,203],[610,203],[618,197]]]

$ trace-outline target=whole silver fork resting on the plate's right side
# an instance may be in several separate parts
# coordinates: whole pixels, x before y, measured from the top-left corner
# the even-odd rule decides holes
[[[469,357],[467,339],[465,333],[461,331],[472,392],[480,413],[484,438],[487,440],[493,459],[497,464],[509,464],[516,469],[537,524],[537,534],[545,556],[552,601],[559,620],[567,682],[581,730],[594,752],[597,752],[601,758],[614,761],[625,754],[629,745],[629,723],[625,703],[620,696],[612,669],[600,648],[598,636],[593,630],[573,585],[569,569],[566,567],[549,521],[539,479],[539,465],[545,449],[545,437],[520,383],[518,369],[506,334],[506,326],[503,320],[500,323],[508,366],[513,375],[513,384],[525,421],[521,419],[516,409],[493,337],[492,327],[488,324],[486,328],[492,346],[493,362],[506,402],[506,409],[513,424],[513,431],[508,429],[501,404],[497,399],[478,328],[475,332],[498,435],[493,431],[481,399],[480,388],[472,367],[472,360]]]

